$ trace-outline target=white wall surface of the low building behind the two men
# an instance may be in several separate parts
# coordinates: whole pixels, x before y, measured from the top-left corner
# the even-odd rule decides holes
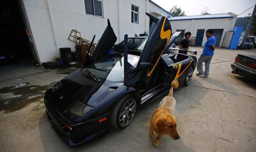
[[[192,20],[175,20],[170,21],[172,30],[176,32],[177,29],[185,29],[185,32],[190,31],[192,37],[196,37],[197,29],[223,29],[220,45],[222,44],[224,35],[227,31],[233,30],[236,17],[233,19],[230,18],[216,18],[216,19],[192,19]],[[203,37],[202,46],[206,42],[206,37]]]

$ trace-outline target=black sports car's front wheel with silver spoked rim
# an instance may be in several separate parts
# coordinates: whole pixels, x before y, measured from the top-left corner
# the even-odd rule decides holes
[[[132,121],[137,102],[131,95],[121,98],[115,105],[111,115],[111,125],[117,129],[126,128]]]

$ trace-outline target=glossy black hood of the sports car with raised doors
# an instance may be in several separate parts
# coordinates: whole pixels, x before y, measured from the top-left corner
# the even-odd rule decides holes
[[[80,69],[61,80],[62,86],[51,94],[52,104],[65,113],[77,101],[92,107],[115,91],[124,83],[113,83],[106,79],[95,81],[88,78]]]

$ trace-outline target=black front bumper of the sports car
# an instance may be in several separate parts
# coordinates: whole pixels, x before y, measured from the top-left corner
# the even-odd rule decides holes
[[[62,113],[51,106],[49,101],[49,98],[45,96],[44,102],[47,116],[54,130],[68,146],[75,147],[88,143],[109,132],[110,112],[91,120],[77,123],[68,120]],[[105,117],[107,118],[105,121],[99,121]],[[72,130],[68,130],[65,127],[66,125],[72,128]]]

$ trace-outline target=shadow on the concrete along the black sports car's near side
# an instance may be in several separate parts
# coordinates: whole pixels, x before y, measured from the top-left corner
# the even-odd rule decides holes
[[[197,82],[200,84],[200,82]],[[176,114],[185,112],[197,106],[199,101],[207,94],[208,89],[200,89],[198,94],[193,95],[193,91],[198,87],[180,87],[175,90],[177,100]],[[156,135],[152,139],[148,137],[151,114],[158,107],[163,97],[158,98],[140,107],[132,123],[123,130],[110,128],[110,133],[88,144],[77,148],[68,147],[59,135],[52,128],[46,114],[40,119],[39,129],[45,151],[184,151],[194,152],[192,147],[184,145],[183,139],[175,141],[169,136],[163,136],[158,148],[153,146]]]

